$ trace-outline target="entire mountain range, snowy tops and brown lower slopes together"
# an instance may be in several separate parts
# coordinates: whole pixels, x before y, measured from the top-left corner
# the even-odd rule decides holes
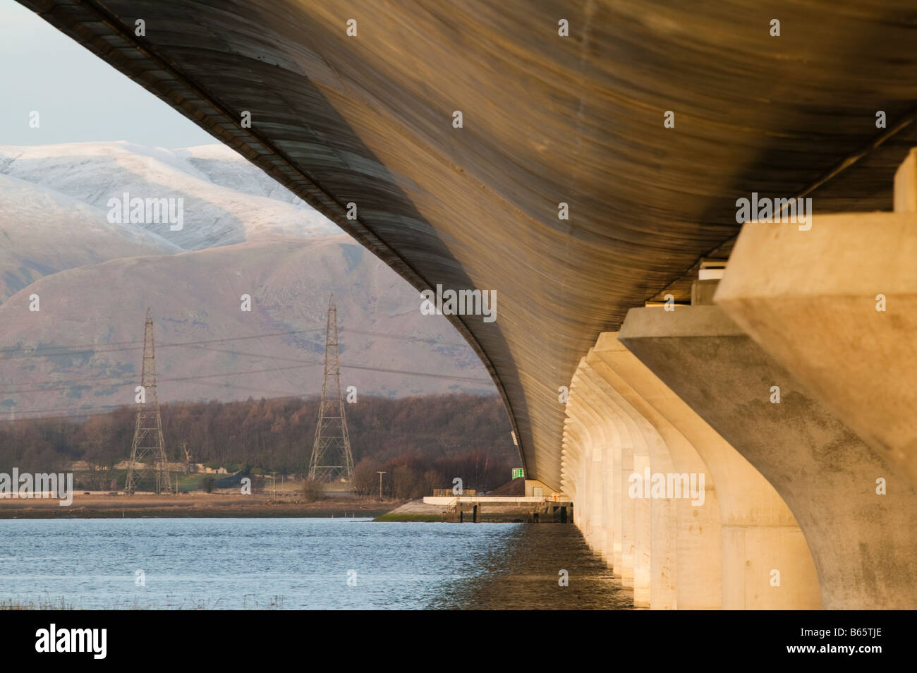
[[[182,198],[183,229],[110,222],[126,192]],[[317,394],[332,292],[358,397],[494,392],[418,292],[231,149],[0,147],[0,420],[133,403],[147,308],[160,400]]]

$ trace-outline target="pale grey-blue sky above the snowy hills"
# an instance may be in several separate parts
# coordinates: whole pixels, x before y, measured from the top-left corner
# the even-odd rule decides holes
[[[0,95],[0,145],[218,142],[15,0],[0,0]]]

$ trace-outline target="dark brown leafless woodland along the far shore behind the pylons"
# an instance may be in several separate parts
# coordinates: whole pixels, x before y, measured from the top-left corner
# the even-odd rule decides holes
[[[302,475],[308,469],[317,397],[161,405],[168,458],[209,467]],[[509,418],[495,395],[455,393],[407,398],[360,396],[345,404],[356,467],[355,486],[414,498],[433,488],[482,491],[510,480],[520,466]],[[129,458],[136,408],[79,418],[30,418],[0,424],[0,471],[66,471],[75,460],[114,469]]]

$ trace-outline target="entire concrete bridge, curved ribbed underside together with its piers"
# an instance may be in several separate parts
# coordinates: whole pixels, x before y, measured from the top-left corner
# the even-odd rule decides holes
[[[733,251],[738,198],[811,197],[818,214],[892,207],[895,171],[917,145],[910,2],[19,1],[414,287],[496,291],[495,322],[450,319],[503,394],[526,476],[577,499],[578,524],[636,601],[917,607],[912,525],[896,513],[913,513],[917,437],[900,420],[913,393],[903,383],[883,395],[896,363],[905,373],[914,363],[913,279],[900,265],[913,266],[902,250],[917,230],[906,204],[895,222],[856,220],[840,239],[755,238],[730,261],[721,308],[635,308],[668,294],[689,302],[701,259]],[[826,220],[823,231],[843,224]],[[886,225],[895,233],[867,245]],[[765,249],[768,264],[756,264]],[[862,249],[874,267],[866,277],[855,268]],[[896,263],[878,263],[883,255]],[[768,282],[787,259],[791,281]],[[802,296],[806,283],[816,289]],[[847,299],[834,303],[841,286]],[[900,302],[874,311],[886,323],[863,337],[845,316],[866,319],[857,302],[883,290]],[[629,309],[656,313],[625,321]],[[809,347],[794,346],[797,329]],[[869,337],[885,340],[860,378],[838,371],[836,359]],[[834,359],[812,366],[826,353]],[[888,414],[843,392],[863,377]],[[769,401],[780,381],[795,409]],[[561,386],[569,404],[558,402]],[[763,397],[746,397],[757,386]],[[787,415],[770,414],[778,409]],[[688,508],[628,498],[640,466],[707,474],[711,497]],[[831,478],[801,484],[817,470]],[[876,500],[878,478],[896,485],[894,502]],[[836,503],[834,515],[819,519],[819,502]],[[877,517],[898,526],[900,545],[884,548],[867,530]],[[711,554],[722,564],[700,572]],[[842,572],[851,564],[853,579]],[[782,593],[781,568],[777,586],[791,586]]]

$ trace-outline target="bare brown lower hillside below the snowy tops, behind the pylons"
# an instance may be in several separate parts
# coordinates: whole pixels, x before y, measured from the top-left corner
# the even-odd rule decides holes
[[[160,401],[317,394],[331,292],[342,385],[358,399],[493,392],[452,325],[422,315],[417,292],[341,235],[116,259],[34,282],[0,306],[0,410],[132,403],[148,307]],[[38,313],[28,311],[31,293]]]

